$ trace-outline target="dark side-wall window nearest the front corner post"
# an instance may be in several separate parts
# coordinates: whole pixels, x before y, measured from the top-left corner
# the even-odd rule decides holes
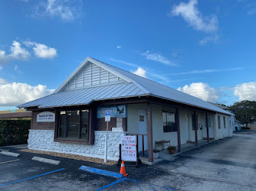
[[[163,132],[177,131],[176,115],[171,112],[162,112]]]

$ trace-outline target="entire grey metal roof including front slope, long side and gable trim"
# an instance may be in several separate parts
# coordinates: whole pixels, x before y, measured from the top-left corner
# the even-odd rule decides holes
[[[79,71],[78,69],[82,68],[82,66],[87,63],[87,61],[93,62],[98,66],[103,67],[105,70],[108,70],[111,73],[126,79],[126,82],[128,83],[88,87],[67,92],[59,91],[64,86],[64,84],[67,83],[68,80],[71,79],[72,76],[74,76]],[[51,108],[67,105],[87,105],[90,102],[96,100],[126,98],[138,95],[152,95],[162,99],[168,99],[173,102],[179,102],[185,105],[192,105],[198,108],[205,108],[214,112],[232,115],[230,112],[205,102],[202,99],[196,98],[184,92],[180,92],[176,89],[172,89],[168,86],[164,86],[160,83],[153,82],[150,79],[126,72],[125,70],[121,70],[117,67],[111,66],[107,63],[103,63],[90,57],[87,57],[87,59],[84,60],[84,62],[81,63],[76,70],[74,70],[71,76],[68,76],[68,78],[54,94],[19,105],[18,107],[28,108],[38,106],[38,108]]]

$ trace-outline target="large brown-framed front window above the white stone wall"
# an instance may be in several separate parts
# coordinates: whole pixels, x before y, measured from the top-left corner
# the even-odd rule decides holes
[[[88,139],[89,111],[72,110],[59,113],[58,138]]]

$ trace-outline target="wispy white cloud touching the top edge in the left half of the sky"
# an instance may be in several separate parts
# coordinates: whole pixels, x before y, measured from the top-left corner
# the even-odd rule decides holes
[[[74,21],[80,18],[82,11],[81,1],[48,0],[34,7],[34,17],[61,18],[62,21]]]

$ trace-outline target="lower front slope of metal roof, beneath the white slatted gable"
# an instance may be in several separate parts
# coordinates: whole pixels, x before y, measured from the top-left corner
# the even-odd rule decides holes
[[[96,100],[119,99],[138,95],[145,95],[145,92],[133,83],[120,83],[54,93],[41,99],[18,105],[18,107],[28,108],[37,106],[38,108],[54,108],[70,105],[87,105]]]

